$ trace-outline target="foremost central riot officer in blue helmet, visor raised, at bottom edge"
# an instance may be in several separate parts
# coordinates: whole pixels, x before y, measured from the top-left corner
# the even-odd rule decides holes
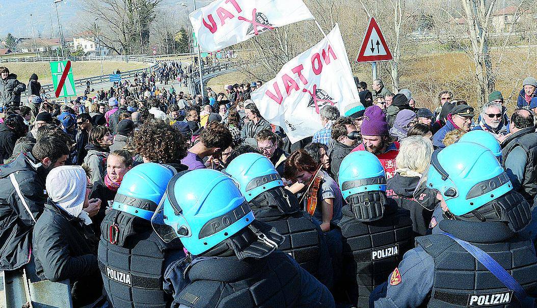
[[[175,175],[152,223],[163,240],[179,238],[192,258],[164,276],[168,284],[187,283],[175,289],[174,307],[334,306],[323,284],[277,250],[284,237],[255,219],[234,181],[219,171]]]

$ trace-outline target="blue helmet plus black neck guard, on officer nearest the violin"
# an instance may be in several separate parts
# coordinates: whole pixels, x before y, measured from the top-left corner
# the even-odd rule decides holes
[[[299,211],[299,201],[284,189],[278,171],[270,161],[258,153],[244,153],[229,163],[224,173],[233,178],[252,209],[278,208],[291,214]]]

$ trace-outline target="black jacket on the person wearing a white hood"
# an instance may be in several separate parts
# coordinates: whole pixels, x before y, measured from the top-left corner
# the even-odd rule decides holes
[[[98,238],[90,225],[49,199],[35,224],[32,243],[36,274],[53,282],[69,279],[74,307],[93,303],[101,296]]]

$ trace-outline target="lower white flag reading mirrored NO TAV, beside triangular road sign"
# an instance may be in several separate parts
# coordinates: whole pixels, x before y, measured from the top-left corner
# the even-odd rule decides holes
[[[339,26],[250,96],[263,118],[282,127],[292,143],[323,128],[319,112],[324,106],[343,114],[359,98]]]

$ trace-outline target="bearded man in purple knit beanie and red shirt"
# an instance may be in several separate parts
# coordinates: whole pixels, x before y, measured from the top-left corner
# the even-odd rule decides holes
[[[399,143],[395,142],[389,134],[386,115],[378,106],[367,107],[361,127],[362,144],[354,151],[368,151],[373,153],[382,164],[389,179],[395,174],[395,158],[399,153]]]

